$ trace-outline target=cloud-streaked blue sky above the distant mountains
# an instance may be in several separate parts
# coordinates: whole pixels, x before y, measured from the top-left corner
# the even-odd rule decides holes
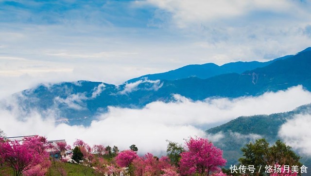
[[[310,9],[299,0],[0,0],[1,92],[294,54],[311,45]]]

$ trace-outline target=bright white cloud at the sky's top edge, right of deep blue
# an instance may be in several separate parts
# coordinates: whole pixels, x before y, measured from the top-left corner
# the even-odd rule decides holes
[[[308,15],[308,9],[291,0],[146,0],[136,5],[151,4],[172,14],[172,21],[180,28],[197,23],[235,20],[252,12],[268,12],[281,15]],[[269,20],[269,19],[266,19]]]

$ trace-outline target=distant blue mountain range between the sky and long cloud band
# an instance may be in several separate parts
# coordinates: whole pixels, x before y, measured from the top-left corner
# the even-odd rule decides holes
[[[155,101],[174,102],[174,94],[193,101],[210,97],[258,96],[302,85],[311,90],[311,49],[268,62],[189,65],[131,79],[122,85],[77,81],[41,84],[14,96],[24,110],[57,109],[69,124],[89,125],[108,106],[142,108]],[[10,106],[8,105],[8,108]]]

